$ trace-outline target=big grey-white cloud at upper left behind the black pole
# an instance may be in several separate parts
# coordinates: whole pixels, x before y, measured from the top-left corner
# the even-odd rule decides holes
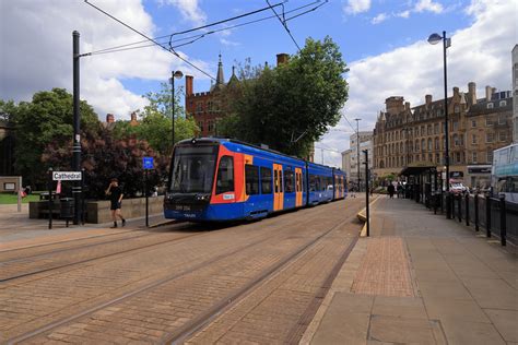
[[[113,0],[99,7],[153,36],[155,26],[140,0]],[[143,40],[83,1],[2,2],[0,25],[0,95],[15,102],[30,100],[34,93],[52,87],[72,92],[74,29],[81,34],[82,53]],[[13,27],[16,29],[11,29]],[[10,28],[9,34],[7,28]],[[190,58],[189,61],[210,70],[203,61]],[[167,81],[175,69],[207,79],[158,47],[83,57],[80,63],[81,98],[86,99],[102,119],[106,112],[115,114],[118,119],[129,118],[131,110],[145,105],[140,95],[125,88],[121,83],[125,79],[153,80],[158,84]]]

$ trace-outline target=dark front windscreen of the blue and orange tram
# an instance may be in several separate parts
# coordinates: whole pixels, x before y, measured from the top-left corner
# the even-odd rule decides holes
[[[210,193],[217,146],[178,146],[173,158],[172,193]]]

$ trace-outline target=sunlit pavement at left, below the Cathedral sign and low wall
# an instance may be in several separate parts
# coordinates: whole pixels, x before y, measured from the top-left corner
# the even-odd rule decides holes
[[[123,213],[123,212],[122,212]],[[163,214],[150,215],[150,226],[157,226],[170,222]],[[58,242],[101,236],[106,234],[123,233],[145,228],[145,217],[128,218],[126,227],[110,228],[113,223],[73,225],[69,222],[66,227],[63,219],[52,219],[52,228],[48,228],[48,219],[31,219],[28,205],[22,204],[22,212],[17,205],[0,205],[0,251],[14,248],[24,248],[36,245]]]

